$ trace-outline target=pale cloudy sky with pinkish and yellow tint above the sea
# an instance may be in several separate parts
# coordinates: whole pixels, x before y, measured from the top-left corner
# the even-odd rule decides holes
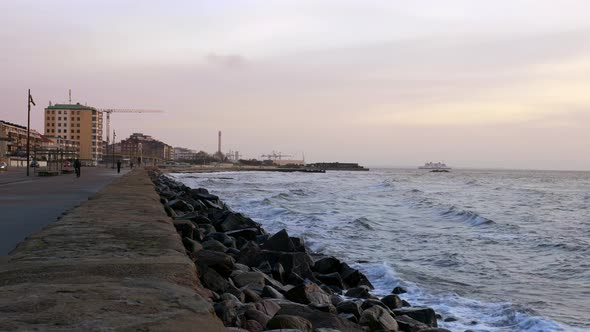
[[[590,170],[588,1],[0,1],[0,119],[51,101],[173,146]]]

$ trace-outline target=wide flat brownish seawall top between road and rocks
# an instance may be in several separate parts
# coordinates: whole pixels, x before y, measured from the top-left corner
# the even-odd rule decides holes
[[[225,331],[145,170],[0,257],[2,331]]]

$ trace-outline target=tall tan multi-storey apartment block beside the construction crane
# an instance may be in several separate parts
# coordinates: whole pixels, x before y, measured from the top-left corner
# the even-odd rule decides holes
[[[79,158],[96,165],[103,157],[103,112],[76,104],[55,104],[45,108],[45,135],[71,140],[79,147]]]

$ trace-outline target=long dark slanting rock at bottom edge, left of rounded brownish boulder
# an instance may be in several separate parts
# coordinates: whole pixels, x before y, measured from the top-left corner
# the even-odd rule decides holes
[[[361,332],[360,325],[357,325],[336,314],[314,310],[309,306],[289,301],[273,300],[281,307],[278,315],[295,315],[303,317],[312,323],[314,329],[331,328],[342,332]]]

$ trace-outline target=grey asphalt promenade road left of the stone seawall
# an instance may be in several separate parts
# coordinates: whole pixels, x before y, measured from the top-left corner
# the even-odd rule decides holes
[[[1,172],[0,256],[127,171],[117,174],[110,168],[83,167],[80,178],[75,174],[27,178],[23,168]]]

